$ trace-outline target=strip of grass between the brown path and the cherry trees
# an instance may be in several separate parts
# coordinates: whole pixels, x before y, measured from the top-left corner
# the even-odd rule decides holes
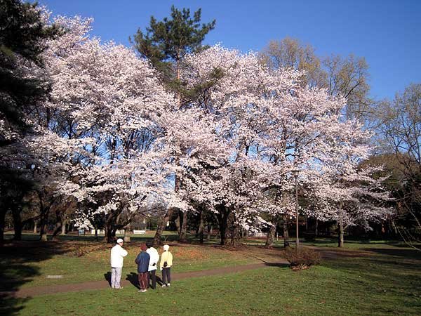
[[[26,236],[29,240],[31,237]],[[152,237],[143,235],[142,239],[135,239],[123,245],[128,250],[128,256],[124,258],[123,273],[137,271],[135,257],[140,251],[140,242],[145,242]],[[0,265],[4,267],[0,276],[6,280],[24,277],[25,282],[20,284],[21,288],[105,279],[105,274],[110,271],[109,253],[112,245],[84,240],[82,238],[79,242],[72,239],[60,243],[48,242],[41,248],[5,247],[0,249]],[[218,246],[180,244],[171,246],[170,250],[174,257],[173,272],[207,270],[261,262],[244,252],[229,251]],[[162,249],[158,251],[161,254]],[[48,279],[48,275],[62,275],[62,278]],[[8,287],[10,285],[7,282],[0,284],[1,290],[6,290]]]

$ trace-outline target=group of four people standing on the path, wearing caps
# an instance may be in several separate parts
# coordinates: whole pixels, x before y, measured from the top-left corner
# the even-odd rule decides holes
[[[171,284],[171,266],[173,255],[169,251],[168,244],[163,245],[163,253],[159,267],[162,272],[162,287],[169,287]],[[117,244],[111,249],[111,287],[121,289],[121,272],[123,270],[123,259],[128,252],[123,249],[123,239],[117,239]],[[156,288],[156,265],[159,261],[158,251],[152,244],[140,244],[140,253],[135,259],[138,265],[138,281],[140,292],[146,292],[152,280],[152,289]]]

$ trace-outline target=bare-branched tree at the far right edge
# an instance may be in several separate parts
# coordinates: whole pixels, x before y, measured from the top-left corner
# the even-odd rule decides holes
[[[408,245],[417,248],[421,232],[421,84],[410,84],[392,102],[382,102],[376,117],[385,152],[395,155],[402,173],[394,193],[404,225],[397,230]]]

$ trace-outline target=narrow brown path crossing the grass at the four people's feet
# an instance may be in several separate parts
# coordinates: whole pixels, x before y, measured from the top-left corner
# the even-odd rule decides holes
[[[273,267],[273,266],[286,266],[286,265],[289,265],[288,262],[282,260],[279,263],[254,263],[250,265],[237,265],[237,266],[217,268],[217,269],[212,269],[212,270],[172,273],[171,281],[176,281],[179,279],[188,279],[190,277],[204,277],[208,275],[226,275],[228,273],[236,273],[236,272],[241,272],[241,271],[246,271],[246,270],[255,270],[255,269],[260,269],[260,268],[267,268],[267,267]],[[133,283],[135,283],[135,279],[137,279],[137,277],[135,276],[135,274],[133,274],[132,276],[133,277],[131,277],[131,279],[129,279],[130,277],[128,277],[127,279],[123,279],[121,282],[121,286],[134,287]],[[102,281],[83,282],[83,283],[77,283],[77,284],[51,285],[47,287],[27,287],[23,289],[18,289],[18,291],[0,292],[0,296],[13,296],[15,298],[26,298],[26,297],[46,295],[46,294],[77,292],[77,291],[107,289],[107,288],[109,288],[109,282],[107,280],[102,280]]]

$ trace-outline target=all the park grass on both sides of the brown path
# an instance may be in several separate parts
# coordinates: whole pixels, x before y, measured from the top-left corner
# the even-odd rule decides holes
[[[259,244],[262,241],[248,242]],[[85,243],[79,242],[79,246],[91,251],[80,257],[70,251],[72,242],[64,242],[65,251],[60,253],[60,249],[55,249],[55,253],[43,260],[29,259],[34,258],[34,253],[31,253],[34,249],[31,249],[27,261],[17,258],[19,254],[15,253],[9,254],[6,261],[2,256],[1,264],[15,266],[11,277],[15,276],[13,273],[22,275],[26,271],[29,282],[19,287],[45,285],[45,273],[58,274],[60,271],[72,275],[73,280],[78,274],[94,279],[99,274],[99,279],[103,279],[108,268],[109,249],[102,249],[102,245],[97,243]],[[121,291],[104,289],[5,299],[0,314],[421,315],[420,252],[399,242],[348,241],[345,249],[336,249],[334,244],[335,241],[329,239],[307,243],[321,249],[325,259],[321,265],[300,272],[271,267],[224,276],[183,279],[172,282],[169,289],[159,288],[147,293],[138,293],[135,287],[125,287]],[[98,249],[95,250],[95,246]],[[133,258],[136,246],[131,251]],[[258,246],[232,251],[213,245],[187,244],[173,246],[171,250],[175,254],[176,272],[251,263],[258,261],[258,256],[265,256]],[[281,252],[272,251],[266,256],[274,259],[277,254]],[[27,270],[22,269],[22,265],[18,268],[18,261],[23,261],[21,263],[27,265]],[[134,268],[130,261],[126,261],[129,270]],[[36,275],[32,275],[31,267],[36,270]],[[62,283],[69,280],[48,280],[51,281]]]

